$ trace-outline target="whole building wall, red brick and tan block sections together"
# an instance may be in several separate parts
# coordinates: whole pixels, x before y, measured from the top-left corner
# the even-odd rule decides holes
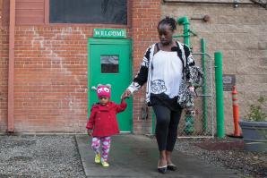
[[[16,7],[22,0],[16,1]],[[30,1],[31,3],[33,1]],[[39,5],[43,0],[36,0]],[[3,5],[6,8],[3,8]],[[7,127],[8,8],[0,0],[0,132]],[[25,5],[25,4],[23,4]],[[46,10],[39,7],[39,11]],[[224,13],[221,13],[224,12]],[[6,13],[4,15],[4,13]],[[200,38],[207,41],[207,52],[223,53],[224,74],[235,74],[240,115],[259,95],[267,95],[267,11],[257,5],[165,4],[157,0],[134,0],[131,24],[112,26],[127,30],[133,39],[133,76],[138,72],[147,47],[157,42],[161,17],[188,16],[194,52],[200,51]],[[38,16],[38,25],[27,25],[19,11],[15,28],[14,129],[16,132],[84,132],[87,122],[87,39],[94,28],[106,25],[49,25]],[[21,16],[22,15],[22,16]],[[27,13],[29,15],[29,13]],[[211,21],[191,20],[209,15]],[[18,17],[18,16],[17,16]],[[20,23],[21,22],[21,23]],[[178,29],[182,33],[182,27]],[[142,119],[145,87],[134,94],[134,132],[151,132],[151,114]],[[231,92],[224,92],[225,125],[233,131]],[[151,108],[150,108],[151,109]]]

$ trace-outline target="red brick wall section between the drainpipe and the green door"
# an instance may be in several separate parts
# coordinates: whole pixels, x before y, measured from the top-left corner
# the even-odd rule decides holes
[[[82,131],[90,29],[17,27],[15,131]]]

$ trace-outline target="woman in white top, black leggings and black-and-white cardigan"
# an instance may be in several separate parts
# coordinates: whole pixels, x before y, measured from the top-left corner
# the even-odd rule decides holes
[[[159,21],[159,43],[147,49],[140,71],[123,94],[123,97],[130,97],[147,82],[146,101],[153,107],[157,118],[158,171],[162,174],[167,170],[177,170],[171,160],[182,113],[177,98],[180,96],[182,78],[190,76],[183,76],[185,66],[194,65],[189,47],[172,38],[175,30],[177,23],[173,18],[166,17]]]

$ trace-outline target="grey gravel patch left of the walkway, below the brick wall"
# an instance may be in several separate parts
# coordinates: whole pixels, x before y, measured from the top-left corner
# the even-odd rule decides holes
[[[0,136],[0,177],[85,178],[74,136]]]

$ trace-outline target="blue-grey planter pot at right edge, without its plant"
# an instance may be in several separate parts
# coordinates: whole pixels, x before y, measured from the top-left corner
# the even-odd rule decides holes
[[[246,150],[267,152],[267,122],[239,121],[239,125]]]

